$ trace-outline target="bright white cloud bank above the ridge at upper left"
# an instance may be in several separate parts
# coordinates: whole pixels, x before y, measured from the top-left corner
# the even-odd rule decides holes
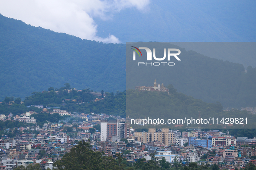
[[[135,8],[143,13],[149,3],[149,0],[1,0],[0,13],[26,24],[82,39],[119,43],[115,35],[107,38],[97,36],[94,17],[108,20],[126,8]]]

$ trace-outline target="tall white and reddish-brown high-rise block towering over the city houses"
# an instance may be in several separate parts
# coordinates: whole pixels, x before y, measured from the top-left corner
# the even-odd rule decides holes
[[[111,141],[114,139],[128,138],[130,136],[130,123],[126,123],[123,120],[100,121],[100,141]]]

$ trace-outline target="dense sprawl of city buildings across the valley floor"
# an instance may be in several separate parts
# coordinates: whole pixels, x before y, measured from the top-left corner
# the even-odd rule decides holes
[[[48,111],[43,108],[42,112]],[[66,110],[54,109],[53,113],[66,113],[84,121],[44,123],[36,125],[26,112],[13,120],[30,123],[27,127],[13,128],[16,135],[3,135],[0,140],[0,168],[12,170],[29,164],[40,164],[44,169],[52,169],[53,163],[71,151],[79,141],[89,142],[94,151],[104,152],[108,157],[121,154],[129,162],[145,158],[156,161],[163,158],[171,164],[181,166],[196,162],[198,165],[217,164],[220,169],[241,169],[246,164],[256,164],[256,138],[233,137],[228,130],[204,129],[133,129],[127,119],[108,114],[71,114]],[[11,113],[10,113],[11,114]],[[51,113],[50,113],[51,114]],[[2,120],[9,116],[0,115]],[[5,129],[7,132],[12,130]]]

